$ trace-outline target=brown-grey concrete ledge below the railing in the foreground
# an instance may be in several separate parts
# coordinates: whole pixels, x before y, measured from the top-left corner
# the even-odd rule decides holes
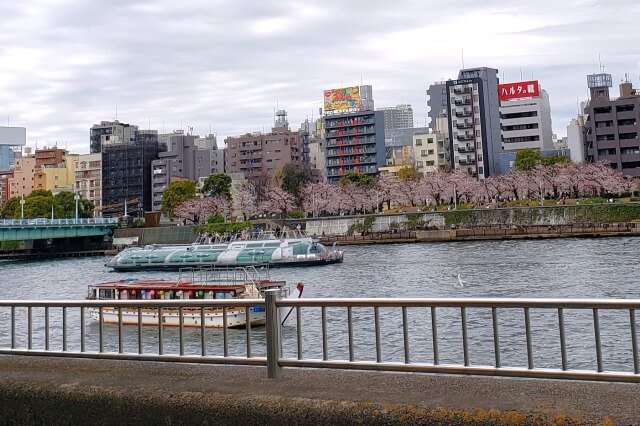
[[[635,384],[0,357],[8,424],[638,424]]]

